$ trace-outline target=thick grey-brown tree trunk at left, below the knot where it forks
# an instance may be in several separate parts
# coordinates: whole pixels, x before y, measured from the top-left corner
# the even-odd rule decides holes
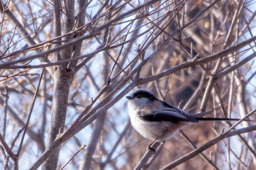
[[[51,109],[51,124],[49,129],[47,148],[50,147],[58,134],[61,134],[64,131],[69,86],[73,77],[71,70],[61,70],[59,69],[59,66],[55,66],[53,70],[53,107]],[[58,149],[56,149],[56,151],[50,155],[45,163],[42,164],[43,170],[56,169],[59,158],[59,150],[60,147],[58,147]]]

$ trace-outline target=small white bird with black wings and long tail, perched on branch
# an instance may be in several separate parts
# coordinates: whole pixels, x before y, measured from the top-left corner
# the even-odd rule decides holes
[[[170,139],[179,129],[186,125],[199,122],[200,120],[233,121],[240,119],[193,117],[178,107],[167,104],[157,99],[148,90],[136,90],[132,96],[127,96],[129,117],[133,128],[146,139],[153,142],[165,142]],[[148,149],[151,148],[151,144]]]

